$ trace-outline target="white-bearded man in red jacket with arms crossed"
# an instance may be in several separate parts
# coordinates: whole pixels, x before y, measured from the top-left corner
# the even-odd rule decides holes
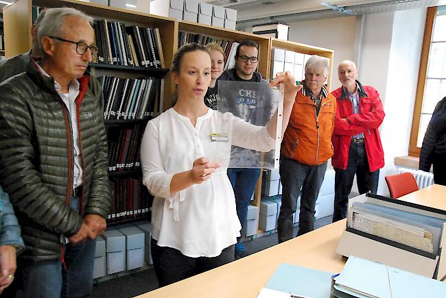
[[[338,66],[342,86],[331,92],[337,99],[331,164],[336,171],[333,223],[347,217],[347,203],[353,179],[357,177],[360,194],[378,188],[379,169],[384,166],[384,151],[378,127],[384,119],[379,93],[357,81],[354,62]]]

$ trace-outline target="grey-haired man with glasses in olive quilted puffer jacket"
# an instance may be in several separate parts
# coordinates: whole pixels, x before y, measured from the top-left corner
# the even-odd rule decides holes
[[[42,60],[0,84],[0,184],[22,227],[25,297],[91,295],[95,238],[110,209],[102,92],[84,75],[97,52],[91,21],[47,10]]]

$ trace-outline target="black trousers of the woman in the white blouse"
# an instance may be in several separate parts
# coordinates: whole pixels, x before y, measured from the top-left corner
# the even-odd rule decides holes
[[[150,241],[153,266],[159,286],[167,286],[187,277],[217,268],[234,260],[234,245],[223,249],[220,256],[213,258],[191,258],[183,255],[178,249],[161,247],[154,238]],[[181,293],[178,293],[181,296]]]

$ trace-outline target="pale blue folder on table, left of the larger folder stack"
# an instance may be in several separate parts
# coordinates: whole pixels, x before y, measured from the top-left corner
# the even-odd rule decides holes
[[[280,264],[257,298],[328,298],[332,276],[329,272]]]

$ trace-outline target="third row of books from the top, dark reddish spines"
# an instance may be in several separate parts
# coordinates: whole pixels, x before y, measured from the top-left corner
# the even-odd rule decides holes
[[[139,169],[139,148],[145,129],[144,123],[128,128],[108,129],[108,171],[117,173]]]

